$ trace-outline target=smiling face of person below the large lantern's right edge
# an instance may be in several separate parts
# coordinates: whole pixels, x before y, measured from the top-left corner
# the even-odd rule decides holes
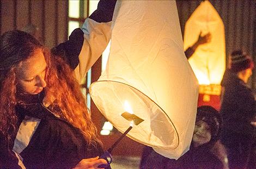
[[[202,120],[196,122],[192,140],[195,147],[208,143],[211,140],[210,127],[206,122]]]

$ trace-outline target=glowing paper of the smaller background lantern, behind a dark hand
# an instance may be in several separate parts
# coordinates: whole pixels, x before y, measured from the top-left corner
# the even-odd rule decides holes
[[[192,46],[202,32],[211,41],[198,46],[188,60],[199,84],[220,84],[225,71],[225,33],[220,15],[209,1],[203,1],[185,24],[184,49]]]

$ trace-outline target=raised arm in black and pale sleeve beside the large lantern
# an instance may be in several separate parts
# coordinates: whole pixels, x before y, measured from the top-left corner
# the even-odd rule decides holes
[[[68,41],[52,49],[53,53],[65,58],[78,82],[99,59],[111,39],[115,3],[115,0],[100,1],[93,14],[84,21],[82,29],[75,29]]]

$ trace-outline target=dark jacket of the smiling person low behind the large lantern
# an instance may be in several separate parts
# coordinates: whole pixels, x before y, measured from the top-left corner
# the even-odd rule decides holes
[[[209,146],[191,147],[188,152],[182,155],[178,160],[169,159],[157,154],[153,148],[145,147],[141,169],[221,169],[222,162],[210,152]]]

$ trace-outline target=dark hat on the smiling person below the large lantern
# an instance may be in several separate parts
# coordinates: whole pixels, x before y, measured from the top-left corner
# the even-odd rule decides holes
[[[222,124],[222,118],[220,112],[209,105],[202,105],[197,108],[196,121],[206,122],[211,130],[211,141],[215,142],[218,140],[220,134],[220,128]]]

